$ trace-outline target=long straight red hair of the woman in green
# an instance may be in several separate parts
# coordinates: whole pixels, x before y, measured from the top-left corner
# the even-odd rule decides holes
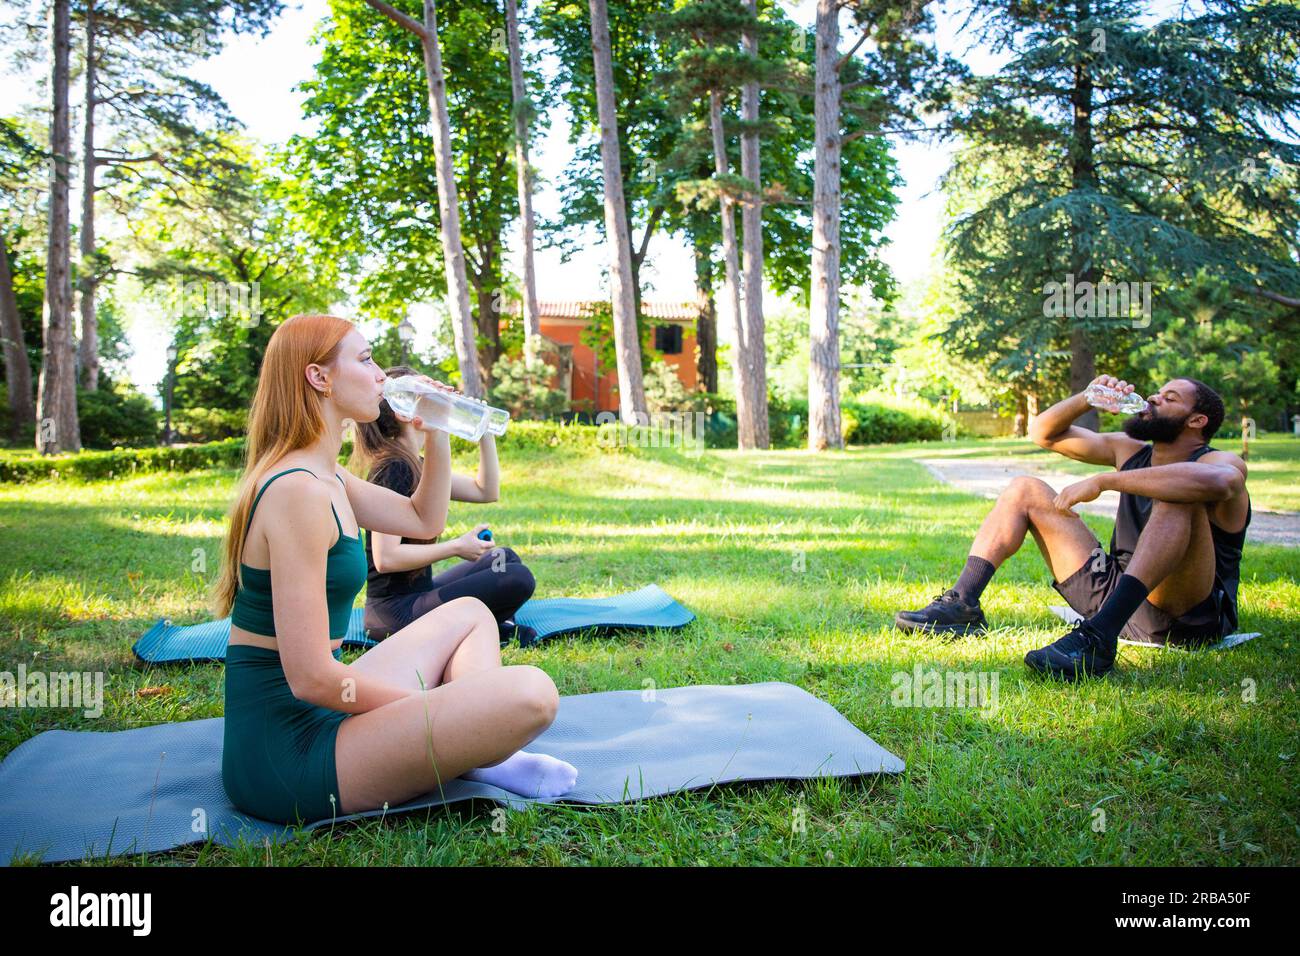
[[[338,356],[352,323],[333,315],[295,315],[281,323],[266,345],[257,392],[248,412],[244,468],[239,494],[230,509],[225,559],[213,585],[218,617],[230,614],[239,589],[248,514],[263,476],[285,455],[313,445],[325,432],[325,401],[303,375],[311,364],[328,365]]]

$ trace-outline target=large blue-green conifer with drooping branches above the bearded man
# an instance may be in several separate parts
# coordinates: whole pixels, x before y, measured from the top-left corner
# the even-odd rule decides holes
[[[966,297],[953,339],[1022,368],[1034,354],[1066,359],[1071,392],[1100,350],[1157,334],[1152,319],[1201,272],[1251,311],[1300,304],[1288,172],[1300,163],[1300,9],[1208,0],[1149,25],[1141,13],[1117,0],[979,0],[971,12],[975,38],[1010,60],[963,81],[953,111],[962,164],[1001,170],[950,226]],[[1056,308],[1049,284],[1078,299]],[[1145,287],[1141,315],[1093,295],[1121,284]]]

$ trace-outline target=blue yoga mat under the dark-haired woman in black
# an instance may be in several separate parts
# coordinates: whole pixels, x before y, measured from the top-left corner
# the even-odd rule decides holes
[[[365,611],[352,609],[343,646],[372,648],[365,636]],[[537,639],[556,637],[575,631],[632,631],[685,627],[696,615],[672,600],[656,584],[614,597],[546,597],[524,604],[515,623],[537,631]],[[131,648],[147,663],[225,661],[230,640],[230,618],[202,624],[173,624],[160,619]]]

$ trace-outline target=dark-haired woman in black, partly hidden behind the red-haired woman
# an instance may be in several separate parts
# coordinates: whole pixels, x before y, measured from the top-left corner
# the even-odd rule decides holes
[[[396,365],[390,378],[415,375]],[[420,477],[420,433],[411,421],[399,420],[387,401],[380,402],[380,416],[356,425],[356,450],[348,467],[369,481],[398,494],[411,494]],[[443,480],[445,476],[439,476]],[[478,442],[476,477],[451,473],[454,501],[491,502],[500,497],[500,470],[497,444],[490,433]],[[367,533],[365,630],[374,640],[402,630],[434,607],[459,597],[476,597],[497,619],[500,643],[519,637],[524,646],[537,639],[530,627],[516,626],[514,617],[533,596],[536,581],[510,548],[498,548],[478,535],[480,524],[460,537],[437,544],[411,540],[380,531]],[[430,564],[462,558],[454,567],[434,575]]]

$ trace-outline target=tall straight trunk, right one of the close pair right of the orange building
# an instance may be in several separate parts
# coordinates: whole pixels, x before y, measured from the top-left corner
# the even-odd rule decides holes
[[[758,17],[758,0],[749,0],[749,12]],[[758,57],[758,34],[745,33],[745,52]],[[746,124],[758,122],[758,83],[745,83],[741,88],[741,118]],[[754,194],[741,207],[741,225],[745,233],[745,339],[749,345],[748,375],[744,385],[749,392],[746,402],[751,418],[750,432],[757,449],[771,445],[767,421],[767,343],[763,328],[763,182],[759,164],[758,131],[746,129],[740,139],[740,174],[754,183]]]

